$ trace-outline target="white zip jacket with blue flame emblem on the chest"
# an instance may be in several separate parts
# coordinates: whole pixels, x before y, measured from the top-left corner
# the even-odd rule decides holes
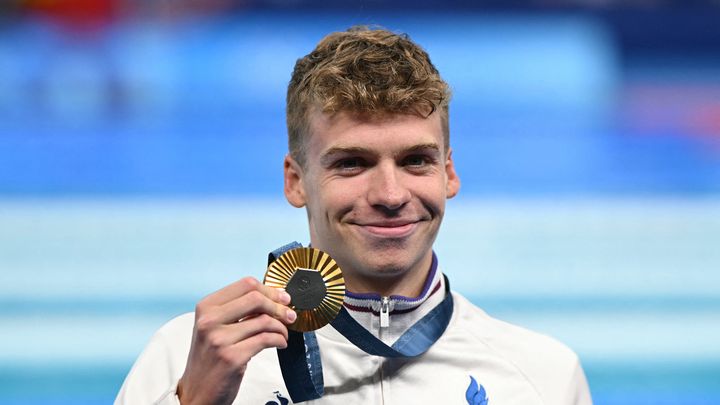
[[[438,284],[442,286],[442,277],[433,269],[421,297],[392,300],[387,328],[379,327],[376,297],[351,294],[346,308],[375,336],[392,343],[442,301],[444,288],[437,288]],[[325,394],[306,403],[468,404],[466,391],[472,377],[486,394],[477,396],[475,404],[592,404],[585,375],[570,349],[550,337],[493,319],[457,293],[453,299],[445,333],[416,358],[370,356],[330,325],[316,331]],[[193,319],[187,313],[158,330],[125,379],[116,404],[179,403],[175,389],[185,369]],[[274,349],[250,361],[234,403],[291,403]]]

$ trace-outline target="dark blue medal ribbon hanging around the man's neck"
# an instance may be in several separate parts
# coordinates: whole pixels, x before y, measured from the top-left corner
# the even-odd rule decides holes
[[[297,242],[282,246],[268,255],[268,265],[288,250],[302,247]],[[445,298],[427,315],[413,324],[410,329],[388,346],[360,325],[342,307],[337,317],[330,322],[340,334],[367,354],[382,357],[416,357],[425,353],[445,332],[453,311],[450,283],[445,277]],[[278,349],[280,370],[285,386],[294,403],[322,397],[324,383],[322,362],[315,332],[288,330],[288,346]]]

